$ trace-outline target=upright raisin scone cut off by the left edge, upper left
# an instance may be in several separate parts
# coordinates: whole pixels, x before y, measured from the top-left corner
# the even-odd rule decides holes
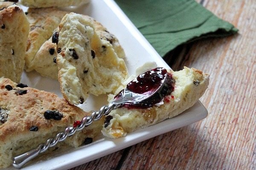
[[[16,5],[0,11],[0,77],[20,82],[25,64],[29,22]]]

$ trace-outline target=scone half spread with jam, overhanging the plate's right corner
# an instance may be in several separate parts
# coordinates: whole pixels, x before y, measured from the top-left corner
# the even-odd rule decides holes
[[[204,94],[209,84],[209,75],[195,68],[170,71],[174,90],[165,96],[160,106],[149,108],[121,107],[111,111],[105,118],[102,133],[110,138],[125,136],[140,128],[148,127],[165,119],[177,116],[192,107]]]

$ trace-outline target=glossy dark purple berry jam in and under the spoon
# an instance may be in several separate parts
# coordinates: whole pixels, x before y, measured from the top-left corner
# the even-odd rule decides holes
[[[144,94],[148,92],[153,92],[155,89],[159,88],[164,81],[164,75],[166,74],[165,68],[154,68],[150,71],[146,71],[140,74],[136,79],[128,83],[127,89],[131,92],[137,94]],[[168,96],[174,91],[175,80],[172,78],[172,74],[167,72],[167,79],[163,87],[149,99],[144,100],[138,104],[125,103],[121,107],[126,107],[128,109],[132,108],[151,108],[153,105],[161,102],[165,96]],[[115,99],[122,97],[123,91],[115,96]]]

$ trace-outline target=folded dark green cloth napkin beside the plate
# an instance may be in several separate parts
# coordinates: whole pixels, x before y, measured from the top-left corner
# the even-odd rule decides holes
[[[195,0],[115,1],[162,57],[185,42],[238,31]]]

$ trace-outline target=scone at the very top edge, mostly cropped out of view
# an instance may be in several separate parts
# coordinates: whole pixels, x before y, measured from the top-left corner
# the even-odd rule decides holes
[[[90,0],[20,0],[23,6],[31,8],[46,7],[64,7],[64,6],[80,6],[88,3]]]

